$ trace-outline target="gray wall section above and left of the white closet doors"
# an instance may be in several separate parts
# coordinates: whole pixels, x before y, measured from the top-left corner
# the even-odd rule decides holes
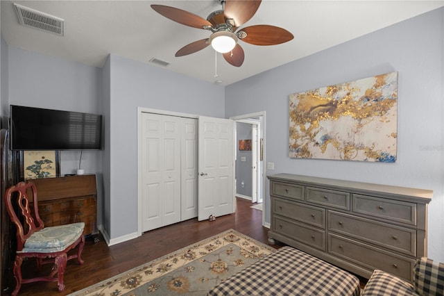
[[[110,238],[137,231],[137,107],[224,117],[225,90],[110,55]],[[108,174],[108,172],[104,172]],[[108,223],[108,222],[107,222]]]

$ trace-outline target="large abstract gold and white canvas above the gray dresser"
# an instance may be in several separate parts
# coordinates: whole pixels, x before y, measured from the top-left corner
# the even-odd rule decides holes
[[[289,156],[394,163],[398,72],[291,94]]]

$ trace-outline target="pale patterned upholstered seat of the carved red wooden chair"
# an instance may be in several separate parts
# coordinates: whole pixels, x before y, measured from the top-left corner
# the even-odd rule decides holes
[[[53,253],[63,251],[82,235],[84,228],[84,222],[45,227],[33,233],[26,240],[22,251],[17,251],[17,253]]]

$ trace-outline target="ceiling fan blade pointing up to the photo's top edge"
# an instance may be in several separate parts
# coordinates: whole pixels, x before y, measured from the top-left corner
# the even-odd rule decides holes
[[[226,0],[223,14],[226,19],[234,19],[234,26],[241,26],[255,15],[262,0]]]

